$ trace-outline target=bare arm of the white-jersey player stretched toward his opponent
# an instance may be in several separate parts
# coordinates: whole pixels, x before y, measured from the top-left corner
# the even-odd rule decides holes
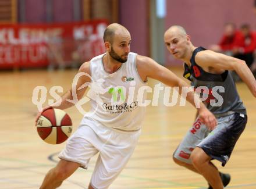
[[[138,73],[140,74],[141,79],[144,81],[147,80],[147,77],[150,77],[152,79],[161,81],[170,87],[180,87],[180,95],[182,94],[182,88],[185,87],[188,89],[190,87],[185,81],[179,79],[179,77],[177,77],[173,72],[166,69],[166,67],[159,65],[151,58],[138,55],[136,59],[136,65]],[[217,123],[215,116],[209,112],[209,110],[205,107],[204,104],[202,104],[202,102],[200,102],[200,99],[197,97],[197,95],[195,95],[194,92],[190,90],[187,92],[186,99],[195,108],[197,108],[197,102],[200,104],[200,107],[198,107],[198,116],[200,117],[201,121],[209,127],[209,129],[214,129]]]

